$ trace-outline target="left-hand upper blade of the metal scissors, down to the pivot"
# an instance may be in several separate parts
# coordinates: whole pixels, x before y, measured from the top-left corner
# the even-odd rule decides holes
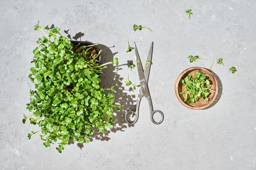
[[[135,57],[137,61],[138,74],[140,79],[140,93],[147,98],[150,96],[150,92],[148,90],[148,84],[143,72],[142,61],[140,60],[140,55],[135,42],[134,42],[134,46],[135,46]]]

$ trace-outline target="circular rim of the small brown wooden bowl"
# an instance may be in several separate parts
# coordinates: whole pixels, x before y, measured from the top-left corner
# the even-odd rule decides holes
[[[208,102],[206,105],[203,105],[202,107],[192,107],[190,105],[188,105],[187,103],[185,103],[181,97],[179,96],[179,91],[178,91],[178,87],[179,87],[179,81],[181,80],[182,76],[184,76],[187,72],[191,71],[191,70],[203,70],[205,72],[207,72],[209,75],[211,75],[213,77],[213,79],[211,79],[211,81],[214,81],[216,84],[216,92],[218,92],[218,82],[216,81],[215,75],[213,73],[211,73],[210,70],[208,70],[207,68],[203,68],[203,67],[190,67],[187,68],[186,70],[182,71],[179,76],[176,79],[176,83],[174,86],[174,91],[176,94],[177,99],[179,100],[179,102],[182,103],[182,105],[184,105],[187,108],[190,109],[194,109],[194,110],[203,110],[205,108],[210,107],[211,104],[213,104],[213,102],[215,101],[216,97],[217,97],[217,93],[215,92],[215,95],[213,95],[213,98],[210,100],[210,102]]]

